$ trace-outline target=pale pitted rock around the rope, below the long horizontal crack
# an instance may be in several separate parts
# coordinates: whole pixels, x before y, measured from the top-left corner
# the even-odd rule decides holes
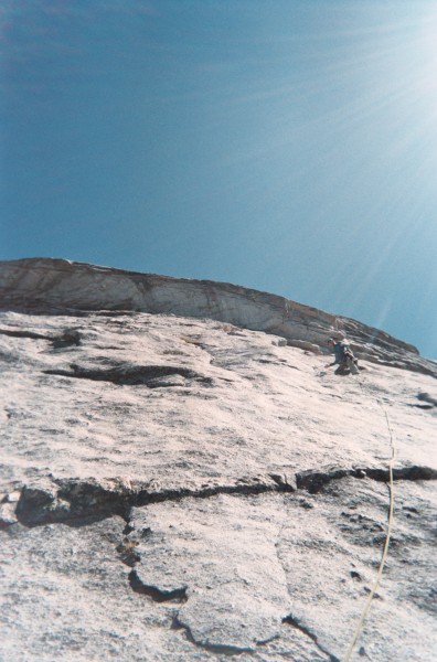
[[[369,479],[348,478],[323,488],[311,510],[299,509],[295,499],[287,502],[279,556],[288,578],[291,620],[316,637],[321,650],[342,659],[381,562],[387,489]],[[395,503],[390,556],[360,645],[372,660],[430,661],[429,641],[437,634],[435,485],[401,481],[395,484]],[[411,516],[408,509],[417,512]]]

